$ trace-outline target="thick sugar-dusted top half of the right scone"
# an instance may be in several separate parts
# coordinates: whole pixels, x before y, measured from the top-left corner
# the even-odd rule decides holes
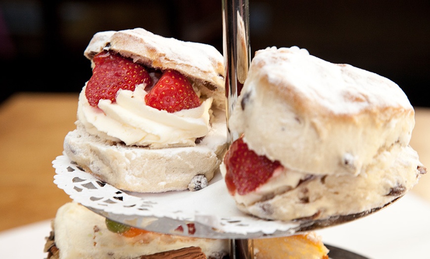
[[[230,129],[258,155],[315,175],[359,174],[406,147],[414,109],[392,81],[298,47],[256,52]]]

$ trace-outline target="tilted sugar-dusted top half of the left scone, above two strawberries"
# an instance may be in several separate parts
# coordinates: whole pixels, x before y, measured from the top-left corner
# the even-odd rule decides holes
[[[213,97],[216,108],[225,108],[224,61],[214,46],[165,38],[135,28],[96,33],[84,55],[92,61],[94,55],[104,50],[119,53],[148,68],[178,71],[202,95]]]

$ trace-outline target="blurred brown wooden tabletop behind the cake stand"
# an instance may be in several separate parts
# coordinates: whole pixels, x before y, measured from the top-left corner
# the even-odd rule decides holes
[[[75,129],[78,94],[18,93],[0,106],[0,231],[53,218],[71,201],[53,183],[52,160]],[[430,168],[430,109],[416,108],[411,146]],[[430,173],[412,192],[430,204]]]

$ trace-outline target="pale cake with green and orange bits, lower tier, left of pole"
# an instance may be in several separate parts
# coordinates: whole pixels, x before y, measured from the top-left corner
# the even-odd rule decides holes
[[[222,259],[228,255],[228,240],[160,234],[113,223],[78,203],[66,203],[52,221],[45,245],[48,259],[140,259],[154,254],[171,258],[176,253],[184,258],[190,254]]]

